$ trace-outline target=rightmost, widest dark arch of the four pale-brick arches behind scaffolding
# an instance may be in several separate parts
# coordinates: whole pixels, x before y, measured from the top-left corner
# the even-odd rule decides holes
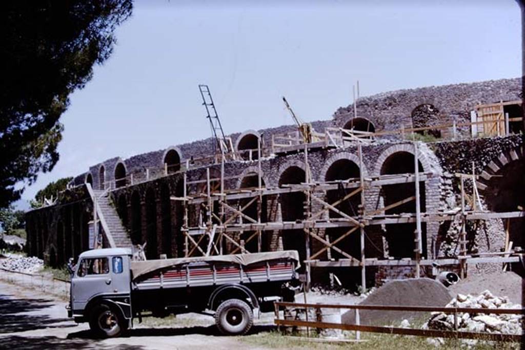
[[[396,152],[386,158],[381,167],[381,175],[392,174],[413,174],[414,173],[414,155],[409,152]],[[423,172],[421,162],[418,162],[419,172]],[[382,186],[382,196],[384,205],[390,206],[408,197],[415,196],[415,184],[394,184]],[[419,208],[423,213],[425,211],[425,182],[419,182]],[[395,206],[385,211],[386,215],[401,214],[401,213],[415,213],[416,202],[411,200],[408,203]],[[386,228],[386,240],[388,242],[388,250],[390,257],[394,258],[414,258],[416,248],[416,224],[388,224]],[[426,256],[426,224],[421,224],[421,237],[423,256]]]

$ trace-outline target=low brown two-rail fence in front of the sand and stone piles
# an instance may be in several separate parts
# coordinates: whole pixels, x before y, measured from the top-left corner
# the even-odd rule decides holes
[[[356,324],[342,324],[342,323],[328,323],[318,321],[303,321],[303,320],[286,320],[280,319],[279,309],[281,307],[293,307],[295,309],[304,309],[308,314],[308,309],[348,309],[355,310]],[[361,325],[359,310],[383,310],[383,311],[422,311],[422,312],[444,312],[447,314],[454,314],[454,320],[457,320],[457,313],[479,313],[479,314],[524,314],[525,309],[476,309],[473,307],[435,307],[435,306],[400,306],[400,305],[339,305],[339,304],[308,304],[308,303],[289,303],[276,302],[275,303],[275,324],[277,326],[302,326],[309,328],[333,328],[345,331],[356,331],[356,339],[360,339],[359,332],[371,333],[387,333],[387,334],[403,334],[416,335],[424,337],[443,337],[443,338],[465,338],[465,339],[479,339],[496,342],[520,342],[522,335],[506,334],[506,333],[480,333],[480,332],[464,332],[464,331],[439,331],[439,330],[422,330],[417,328],[400,328],[394,326],[370,326]],[[455,322],[457,324],[457,322]]]

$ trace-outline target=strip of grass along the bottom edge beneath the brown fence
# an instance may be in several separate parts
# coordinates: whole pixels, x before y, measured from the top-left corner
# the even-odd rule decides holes
[[[351,332],[353,333],[353,332]],[[418,336],[403,336],[391,334],[372,334],[361,333],[361,342],[309,342],[306,340],[294,339],[291,336],[283,336],[279,332],[259,333],[244,337],[238,337],[240,342],[249,345],[269,347],[276,349],[293,349],[293,348],[309,348],[309,349],[359,349],[359,350],[378,350],[378,349],[396,349],[396,350],[412,350],[412,349],[432,349],[432,350],[452,350],[458,348],[467,348],[460,340],[447,339],[445,344],[436,347],[427,342],[427,338]],[[354,339],[353,334],[348,339]],[[493,350],[493,349],[518,349],[518,343],[494,343],[478,341],[470,349],[475,350]]]

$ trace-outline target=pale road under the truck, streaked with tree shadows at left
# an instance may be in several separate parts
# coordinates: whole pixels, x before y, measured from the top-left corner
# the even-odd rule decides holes
[[[129,337],[95,340],[87,324],[67,319],[64,301],[37,290],[0,281],[0,348],[4,349],[184,349],[253,348],[238,337],[217,334],[215,326],[138,328]],[[268,326],[254,326],[254,331]]]

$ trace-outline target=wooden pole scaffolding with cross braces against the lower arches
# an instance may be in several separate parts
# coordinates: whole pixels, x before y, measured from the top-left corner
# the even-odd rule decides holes
[[[358,146],[359,168],[363,168],[361,139],[355,137],[353,139]],[[366,141],[365,141],[366,142]],[[261,147],[257,150],[258,154],[258,171],[257,171],[257,187],[240,188],[234,190],[226,190],[224,182],[227,179],[238,178],[224,176],[224,162],[226,156],[221,157],[220,176],[218,178],[211,178],[210,168],[206,167],[206,179],[197,181],[188,181],[186,173],[184,172],[184,191],[182,197],[171,197],[172,200],[182,201],[183,204],[183,225],[182,234],[184,235],[184,253],[185,256],[192,256],[194,254],[201,254],[209,256],[211,254],[226,253],[224,244],[229,244],[233,250],[229,253],[249,253],[245,247],[246,243],[253,239],[257,239],[257,251],[261,251],[261,236],[265,231],[300,229],[304,232],[304,243],[307,259],[306,263],[306,282],[310,283],[311,267],[330,268],[330,267],[360,267],[361,268],[361,287],[366,288],[365,268],[366,266],[414,266],[415,275],[421,275],[422,266],[434,266],[434,264],[458,264],[460,268],[461,277],[466,271],[467,262],[495,262],[495,263],[510,263],[519,261],[520,257],[511,249],[507,249],[503,256],[498,253],[486,253],[483,257],[469,256],[467,254],[467,239],[466,239],[466,221],[467,220],[485,220],[491,218],[518,218],[525,217],[525,211],[514,211],[508,213],[493,213],[482,210],[479,203],[479,194],[476,188],[476,179],[478,175],[474,174],[456,174],[461,183],[461,209],[440,211],[437,213],[422,213],[419,208],[419,182],[425,182],[433,176],[432,173],[419,173],[418,167],[418,144],[413,143],[414,147],[414,173],[396,174],[396,175],[381,175],[375,177],[364,177],[360,172],[359,178],[349,178],[343,181],[327,181],[314,182],[310,176],[308,152],[309,146],[312,144],[302,144],[302,152],[304,154],[305,174],[306,179],[304,183],[293,185],[282,185],[280,187],[266,187],[262,186],[261,174]],[[188,167],[186,166],[185,169]],[[474,167],[472,168],[474,171]],[[472,182],[473,194],[469,198],[465,194],[464,184],[466,181]],[[367,212],[365,210],[365,192],[372,187],[414,183],[415,195],[409,196],[396,203],[385,206],[377,210]],[[188,194],[188,188],[196,184],[204,185],[201,192],[195,194]],[[350,193],[343,197],[328,203],[327,199],[321,199],[314,193],[327,192],[329,190],[343,188],[349,190]],[[305,196],[304,201],[304,218],[295,221],[267,221],[262,222],[261,209],[263,205],[263,198],[265,196],[275,196],[289,193],[302,193]],[[360,195],[360,210],[358,215],[350,216],[338,208],[338,205],[354,196]],[[240,200],[243,204],[240,205]],[[415,213],[403,213],[397,215],[386,215],[385,211],[397,206],[401,206],[409,201],[416,202]],[[467,209],[466,202],[470,204],[470,210]],[[321,207],[320,210],[312,211],[312,203],[316,203]],[[246,214],[246,209],[252,205],[257,205],[256,217]],[[197,210],[195,210],[197,209]],[[338,218],[326,219],[325,213],[332,211],[339,215]],[[453,259],[423,259],[422,247],[422,222],[443,222],[450,220],[461,220],[461,233],[458,241],[460,247],[459,254]],[[196,224],[194,224],[196,222]],[[365,257],[365,227],[369,225],[382,224],[406,224],[408,222],[415,222],[416,230],[414,232],[415,240],[415,254],[414,258],[405,259],[376,259]],[[329,241],[315,232],[319,228],[347,228],[346,232],[333,241]],[[246,231],[253,232],[246,240],[240,239],[240,234]],[[360,235],[360,252],[361,259],[352,257],[351,254],[345,252],[337,245],[344,238],[349,235]],[[236,238],[237,237],[237,238]],[[310,251],[310,240],[319,241],[322,248],[319,251]],[[320,260],[324,252],[336,251],[344,258],[337,261]],[[494,256],[490,256],[494,255]]]

